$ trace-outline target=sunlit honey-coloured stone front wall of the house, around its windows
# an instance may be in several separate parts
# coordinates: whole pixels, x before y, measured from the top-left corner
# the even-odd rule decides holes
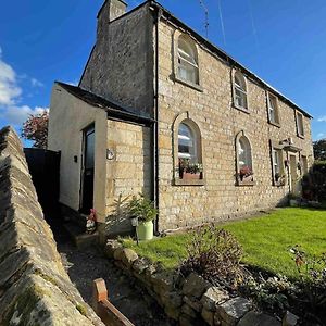
[[[297,136],[296,110],[278,100],[280,127],[268,123],[266,90],[248,77],[249,113],[233,105],[231,66],[193,40],[198,50],[200,87],[179,83],[175,75],[176,34],[164,20],[159,25],[160,228],[176,228],[218,218],[242,216],[284,203],[288,185],[273,186],[269,140],[293,138],[313,162],[310,118],[305,138]],[[188,115],[202,137],[203,186],[174,186],[174,122]],[[177,127],[177,126],[176,126]],[[255,185],[236,186],[235,139],[243,130],[251,141]],[[296,153],[297,161],[299,160]],[[281,162],[283,163],[283,162]]]

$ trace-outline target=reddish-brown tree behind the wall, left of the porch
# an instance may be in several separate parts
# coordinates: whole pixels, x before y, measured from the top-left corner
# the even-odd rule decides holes
[[[48,124],[49,111],[45,110],[42,113],[29,114],[23,124],[22,137],[34,140],[33,147],[46,149],[48,143]]]

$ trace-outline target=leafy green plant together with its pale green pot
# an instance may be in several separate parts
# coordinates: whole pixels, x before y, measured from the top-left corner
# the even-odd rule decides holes
[[[153,238],[153,220],[158,215],[154,203],[143,195],[134,196],[128,204],[129,217],[136,224],[136,233],[139,240]],[[135,221],[137,221],[135,223]]]

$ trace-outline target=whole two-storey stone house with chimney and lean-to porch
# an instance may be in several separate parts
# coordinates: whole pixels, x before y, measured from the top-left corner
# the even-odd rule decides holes
[[[78,87],[53,86],[60,201],[126,231],[148,193],[156,230],[286,202],[313,163],[311,115],[155,1],[106,0]]]

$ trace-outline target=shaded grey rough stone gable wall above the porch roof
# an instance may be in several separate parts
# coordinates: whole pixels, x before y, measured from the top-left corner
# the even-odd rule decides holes
[[[109,4],[110,1],[102,9],[102,15],[110,10]],[[148,5],[143,5],[101,27],[80,87],[150,115],[153,108],[152,26]]]

